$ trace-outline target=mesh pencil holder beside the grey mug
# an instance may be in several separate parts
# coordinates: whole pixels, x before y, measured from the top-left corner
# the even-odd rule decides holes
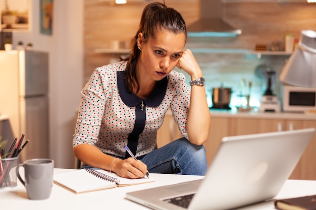
[[[0,189],[16,187],[18,157],[4,158],[0,160]]]

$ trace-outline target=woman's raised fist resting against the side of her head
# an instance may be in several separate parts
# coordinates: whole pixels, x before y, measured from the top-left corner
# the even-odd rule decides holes
[[[178,60],[177,67],[183,69],[191,78],[200,77],[202,74],[201,68],[196,62],[191,50],[186,49],[183,51],[181,57]]]

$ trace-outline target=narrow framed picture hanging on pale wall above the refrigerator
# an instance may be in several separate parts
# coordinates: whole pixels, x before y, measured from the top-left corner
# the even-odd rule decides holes
[[[52,34],[52,8],[53,0],[40,0],[40,33]]]

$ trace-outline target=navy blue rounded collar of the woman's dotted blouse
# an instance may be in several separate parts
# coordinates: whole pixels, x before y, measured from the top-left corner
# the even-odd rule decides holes
[[[140,104],[141,101],[144,101],[144,103],[149,107],[157,107],[162,103],[167,91],[167,84],[168,84],[167,77],[165,77],[164,79],[160,81],[156,81],[156,84],[152,92],[145,99],[138,97],[136,94],[131,94],[128,91],[126,87],[126,83],[125,83],[125,78],[126,78],[126,71],[117,72],[117,81],[118,81],[118,89],[119,89],[120,97],[127,106],[130,106],[130,107],[137,106],[138,104]]]

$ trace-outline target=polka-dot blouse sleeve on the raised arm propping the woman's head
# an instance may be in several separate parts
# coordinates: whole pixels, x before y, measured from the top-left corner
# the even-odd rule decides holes
[[[171,111],[173,118],[178,125],[181,135],[188,138],[186,123],[190,108],[191,92],[185,83],[185,76],[182,73],[177,73],[171,76],[173,84],[173,99],[171,102]]]

